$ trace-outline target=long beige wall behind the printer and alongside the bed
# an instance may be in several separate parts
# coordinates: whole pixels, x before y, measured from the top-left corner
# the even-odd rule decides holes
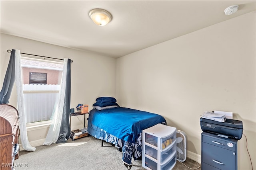
[[[120,106],[158,113],[201,155],[200,114],[231,111],[243,121],[256,168],[255,11],[117,59]],[[251,168],[246,138],[238,168]]]

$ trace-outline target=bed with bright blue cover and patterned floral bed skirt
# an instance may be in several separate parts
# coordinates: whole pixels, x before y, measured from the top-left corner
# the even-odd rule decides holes
[[[94,109],[89,112],[88,133],[122,148],[122,161],[130,169],[134,160],[142,156],[142,130],[158,123],[167,125],[166,120],[155,113],[102,103],[101,106],[94,104]]]

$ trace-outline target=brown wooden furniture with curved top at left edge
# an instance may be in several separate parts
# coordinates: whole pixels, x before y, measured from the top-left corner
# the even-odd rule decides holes
[[[8,104],[0,104],[0,170],[14,169],[19,156],[19,114]]]

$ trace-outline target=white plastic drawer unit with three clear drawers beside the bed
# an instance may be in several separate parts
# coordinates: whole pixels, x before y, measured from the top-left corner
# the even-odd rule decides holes
[[[176,127],[162,124],[142,131],[142,166],[170,170],[176,164]]]

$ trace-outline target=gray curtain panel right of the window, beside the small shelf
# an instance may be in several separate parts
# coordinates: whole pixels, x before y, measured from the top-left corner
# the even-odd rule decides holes
[[[66,92],[64,99],[64,107],[62,114],[62,122],[60,125],[60,134],[56,143],[64,143],[70,137],[70,91],[71,91],[71,70],[70,70],[70,59],[68,59],[67,65],[67,77],[66,77]]]

